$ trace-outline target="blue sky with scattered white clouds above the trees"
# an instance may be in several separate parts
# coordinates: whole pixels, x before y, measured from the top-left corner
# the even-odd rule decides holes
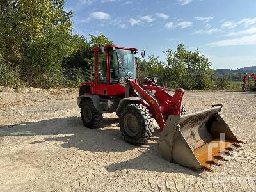
[[[256,65],[255,0],[66,0],[74,33],[104,33],[122,47],[163,52],[183,42],[212,68]]]

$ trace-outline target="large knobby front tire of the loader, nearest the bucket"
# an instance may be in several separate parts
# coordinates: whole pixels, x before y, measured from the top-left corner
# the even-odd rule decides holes
[[[124,140],[133,145],[143,145],[152,136],[154,125],[148,109],[141,104],[129,104],[119,118]]]

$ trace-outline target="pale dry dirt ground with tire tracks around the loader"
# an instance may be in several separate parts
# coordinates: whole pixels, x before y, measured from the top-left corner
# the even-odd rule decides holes
[[[165,161],[157,148],[125,143],[114,113],[83,127],[78,90],[0,92],[0,191],[255,191],[256,92],[186,92],[188,112],[223,104],[243,148],[212,172]]]

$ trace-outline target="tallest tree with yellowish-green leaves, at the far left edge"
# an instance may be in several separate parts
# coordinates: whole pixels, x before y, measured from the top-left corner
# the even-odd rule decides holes
[[[64,0],[0,2],[0,54],[29,85],[40,86],[35,79],[57,74],[63,57],[72,52],[72,12],[63,7]]]

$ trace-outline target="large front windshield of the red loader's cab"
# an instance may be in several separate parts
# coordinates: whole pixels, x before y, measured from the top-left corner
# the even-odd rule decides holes
[[[110,83],[118,83],[120,77],[136,78],[134,51],[125,49],[109,49]]]

